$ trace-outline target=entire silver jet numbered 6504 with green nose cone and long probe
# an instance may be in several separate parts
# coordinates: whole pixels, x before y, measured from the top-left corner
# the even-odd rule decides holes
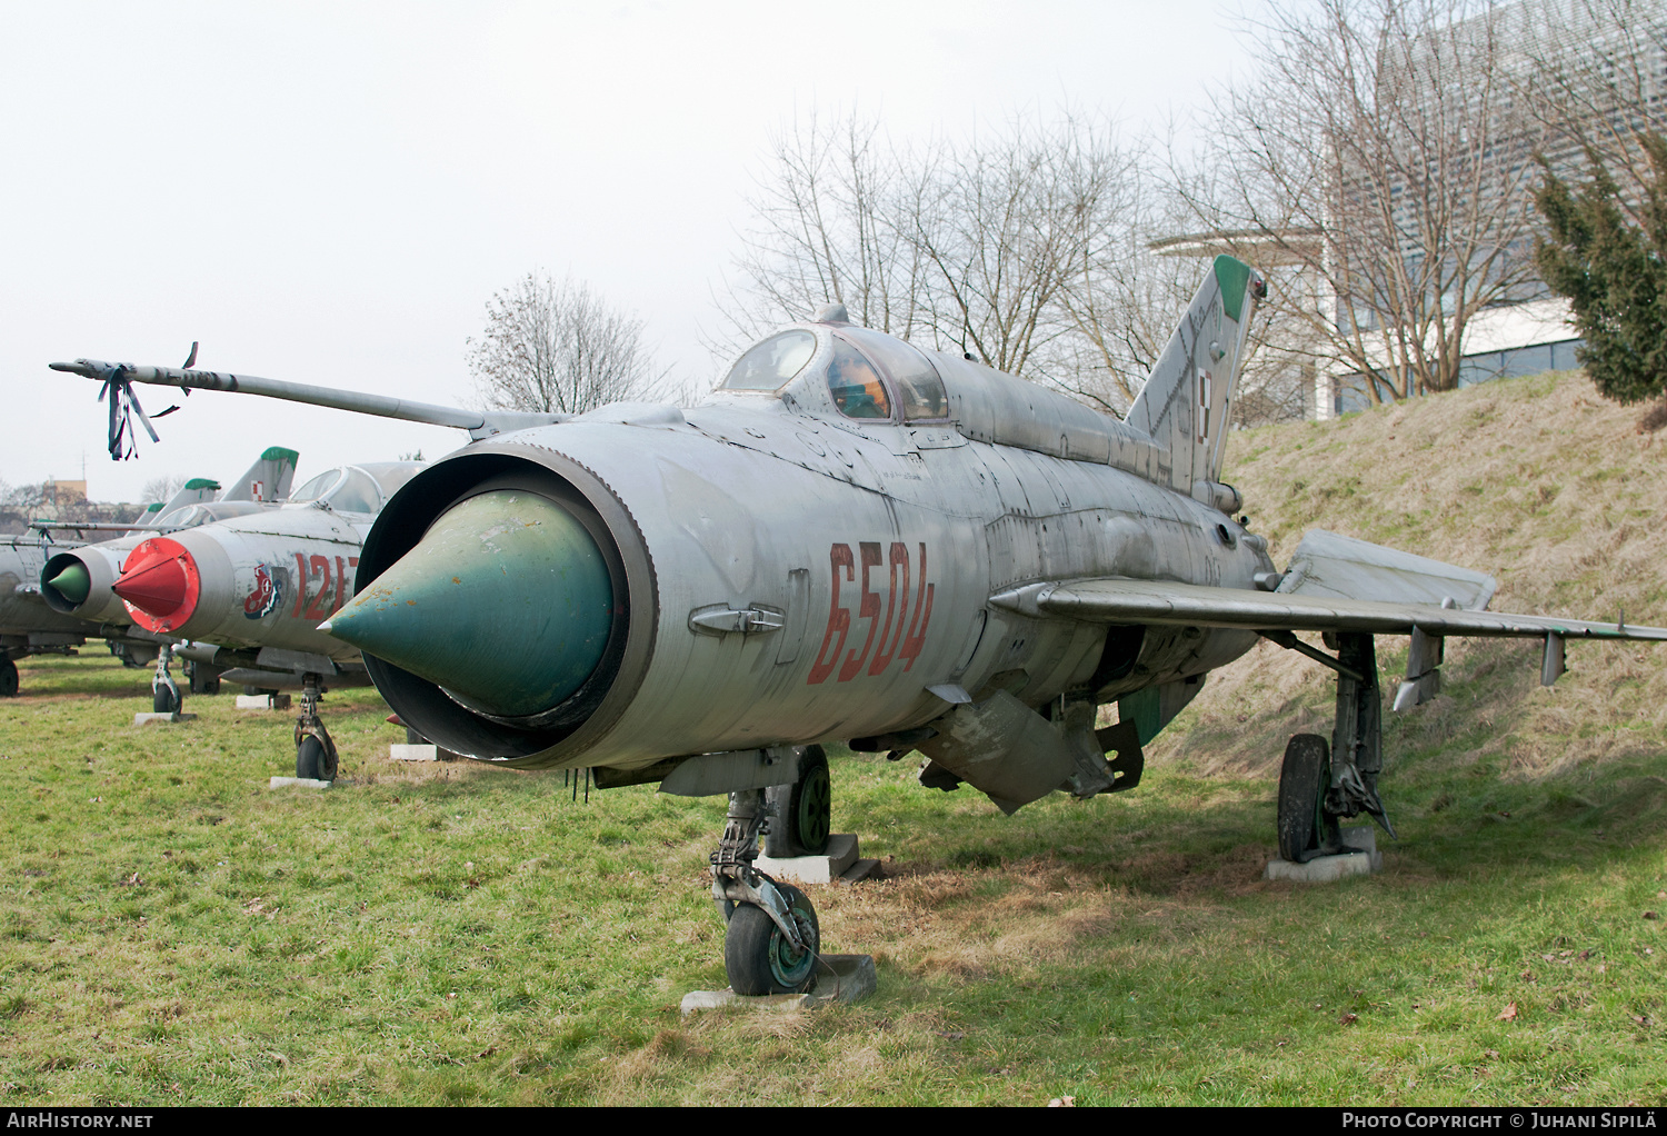
[[[1437,691],[1447,636],[1539,639],[1552,682],[1570,637],[1667,631],[1489,612],[1480,572],[1320,530],[1277,571],[1222,480],[1264,295],[1219,257],[1125,420],[854,327],[840,305],[747,350],[688,409],[528,425],[400,404],[397,417],[452,415],[475,440],[388,502],[357,597],[323,629],[445,749],[593,767],[603,787],[727,792],[712,894],[742,994],[815,976],[810,901],[753,861],[760,837],[772,854],[827,839],[823,742],[919,751],[924,784],[969,784],[1005,812],[1132,789],[1142,746],[1259,636],[1337,674],[1330,739],[1285,751],[1277,826],[1290,859],[1340,851],[1340,817],[1390,827],[1375,636],[1412,637],[1404,709]],[[1097,727],[1109,702],[1119,722]]]

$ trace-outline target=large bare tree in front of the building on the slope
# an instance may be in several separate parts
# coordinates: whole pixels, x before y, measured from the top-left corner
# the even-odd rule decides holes
[[[1512,28],[1467,0],[1269,18],[1182,192],[1239,255],[1297,270],[1270,290],[1289,352],[1357,372],[1374,402],[1452,389],[1475,319],[1540,287],[1529,188],[1545,133],[1517,97]]]

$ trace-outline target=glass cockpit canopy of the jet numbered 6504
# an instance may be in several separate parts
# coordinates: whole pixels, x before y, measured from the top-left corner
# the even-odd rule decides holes
[[[815,362],[815,367],[810,364]],[[795,382],[797,380],[797,382]],[[949,417],[949,395],[937,367],[919,349],[865,327],[842,325],[820,335],[778,332],[743,354],[720,390],[793,390],[832,400],[847,419],[925,422]],[[825,395],[812,387],[825,384]]]

